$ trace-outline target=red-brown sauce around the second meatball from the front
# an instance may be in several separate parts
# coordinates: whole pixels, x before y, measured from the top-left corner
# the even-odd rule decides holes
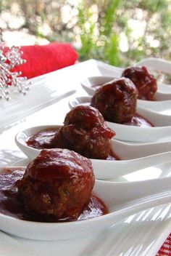
[[[40,132],[37,132],[35,135],[28,137],[26,141],[27,145],[31,148],[44,149],[44,148],[53,148],[51,146],[51,140],[54,138],[57,129],[43,129]],[[110,152],[106,160],[120,160],[114,152]]]

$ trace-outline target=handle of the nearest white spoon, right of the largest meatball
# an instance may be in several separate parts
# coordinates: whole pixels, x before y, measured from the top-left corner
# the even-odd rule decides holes
[[[107,190],[106,196],[104,195],[102,199],[107,205],[114,207],[114,210],[122,208],[122,204],[130,204],[130,202],[132,204],[133,201],[137,203],[138,200],[141,200],[141,204],[161,199],[171,202],[171,177],[133,182],[98,181],[96,185],[99,191]]]

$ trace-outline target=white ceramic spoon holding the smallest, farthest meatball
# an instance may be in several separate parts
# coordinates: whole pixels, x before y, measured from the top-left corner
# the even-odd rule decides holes
[[[96,85],[106,84],[113,79],[118,79],[118,77],[114,76],[91,76],[88,77],[86,80],[81,81],[80,84],[82,85],[83,89],[86,90],[88,95],[93,95],[96,91]],[[156,101],[164,101],[164,100],[171,100],[171,85],[167,84],[158,84],[157,92],[154,95],[154,100]],[[141,101],[143,105],[147,105],[153,107],[155,101],[150,100],[138,100]],[[170,101],[171,102],[171,101]],[[164,104],[164,103],[163,103]]]

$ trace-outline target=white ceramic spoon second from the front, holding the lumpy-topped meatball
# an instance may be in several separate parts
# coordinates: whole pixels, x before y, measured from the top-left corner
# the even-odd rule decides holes
[[[57,129],[60,126],[31,127],[17,133],[15,142],[29,159],[35,159],[41,150],[29,147],[26,140],[28,140],[28,137],[31,135],[35,135],[36,132],[49,129],[50,127]],[[139,169],[165,163],[171,159],[171,142],[133,145],[117,140],[111,140],[111,148],[122,160],[112,161],[91,159],[97,179],[114,179]]]

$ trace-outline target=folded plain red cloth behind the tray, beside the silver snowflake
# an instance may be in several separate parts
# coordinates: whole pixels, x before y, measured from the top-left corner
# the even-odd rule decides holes
[[[12,71],[22,71],[22,76],[28,79],[72,65],[78,58],[77,52],[67,43],[25,46],[21,50],[27,62]]]

